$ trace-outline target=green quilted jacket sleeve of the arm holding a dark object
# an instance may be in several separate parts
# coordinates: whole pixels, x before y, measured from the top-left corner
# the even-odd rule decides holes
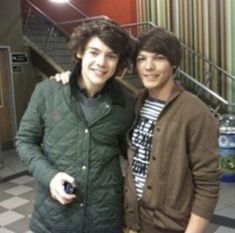
[[[58,171],[49,163],[41,147],[46,104],[42,87],[42,84],[36,86],[22,117],[16,134],[16,150],[35,179],[49,186],[50,180]]]

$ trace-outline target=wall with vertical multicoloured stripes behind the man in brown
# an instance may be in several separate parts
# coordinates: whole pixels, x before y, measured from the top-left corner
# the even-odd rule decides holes
[[[234,105],[235,1],[137,0],[137,5],[138,21],[167,28],[197,54],[183,50],[184,71]]]

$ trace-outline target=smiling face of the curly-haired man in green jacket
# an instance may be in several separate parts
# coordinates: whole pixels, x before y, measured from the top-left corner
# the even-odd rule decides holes
[[[98,37],[87,43],[82,55],[82,78],[86,88],[102,88],[114,75],[119,56]]]

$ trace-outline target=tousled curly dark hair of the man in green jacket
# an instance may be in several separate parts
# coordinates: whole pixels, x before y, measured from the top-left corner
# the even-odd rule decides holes
[[[84,53],[92,37],[98,37],[112,51],[119,55],[117,71],[122,71],[130,62],[132,40],[128,32],[109,19],[99,19],[74,28],[70,36],[69,48],[76,63],[81,62],[77,53]]]

